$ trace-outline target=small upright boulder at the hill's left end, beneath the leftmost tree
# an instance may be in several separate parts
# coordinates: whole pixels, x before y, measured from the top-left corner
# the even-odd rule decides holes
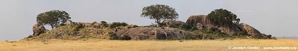
[[[45,32],[47,29],[40,24],[34,24],[33,26],[33,36],[38,36],[40,33]],[[48,31],[48,30],[47,30]]]

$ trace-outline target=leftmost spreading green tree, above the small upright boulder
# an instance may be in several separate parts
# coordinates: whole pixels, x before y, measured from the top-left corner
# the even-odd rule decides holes
[[[70,20],[70,15],[65,11],[51,10],[37,15],[36,22],[41,25],[49,25],[52,28],[65,23]]]

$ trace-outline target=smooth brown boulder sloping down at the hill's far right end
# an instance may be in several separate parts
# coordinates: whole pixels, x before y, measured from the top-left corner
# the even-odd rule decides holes
[[[246,31],[249,35],[255,36],[262,39],[268,39],[270,37],[265,36],[265,34],[261,33],[257,29],[253,28],[252,26],[249,26],[247,24],[241,23],[240,28],[243,29],[243,31]]]

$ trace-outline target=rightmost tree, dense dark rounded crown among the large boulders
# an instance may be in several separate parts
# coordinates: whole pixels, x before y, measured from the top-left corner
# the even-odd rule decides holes
[[[219,26],[223,24],[239,23],[240,21],[235,14],[223,8],[215,9],[207,15],[207,18]]]

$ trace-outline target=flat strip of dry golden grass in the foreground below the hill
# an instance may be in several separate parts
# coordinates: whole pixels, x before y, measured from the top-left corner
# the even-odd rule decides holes
[[[228,50],[227,47],[298,47],[298,39],[279,40],[86,40],[49,42],[0,42],[0,51],[297,51],[297,50]]]

